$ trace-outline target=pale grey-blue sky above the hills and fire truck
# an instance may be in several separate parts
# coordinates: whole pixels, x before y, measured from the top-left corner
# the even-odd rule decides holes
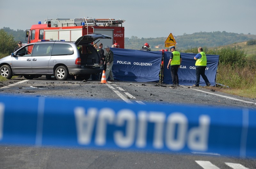
[[[216,31],[256,34],[256,0],[0,0],[0,28],[26,30],[47,18],[84,17],[125,20],[128,38]]]

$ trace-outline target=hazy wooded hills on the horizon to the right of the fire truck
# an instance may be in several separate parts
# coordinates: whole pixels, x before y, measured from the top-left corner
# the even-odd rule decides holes
[[[128,49],[140,49],[144,43],[148,43],[152,50],[166,49],[164,47],[164,41],[167,37],[160,38],[141,38],[136,36],[131,38],[125,38],[124,46]],[[251,34],[238,34],[238,33],[227,33],[225,31],[220,32],[199,32],[193,34],[183,34],[181,36],[174,36],[177,42],[177,49],[183,50],[194,47],[218,47],[223,45],[229,45],[238,42],[244,42],[247,40],[256,39],[256,35]],[[155,48],[159,46],[159,48]]]

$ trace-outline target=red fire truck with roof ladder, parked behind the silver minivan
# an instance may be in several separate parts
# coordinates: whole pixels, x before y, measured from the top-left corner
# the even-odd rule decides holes
[[[124,27],[125,20],[121,19],[44,19],[44,24],[39,21],[37,25],[32,25],[30,30],[26,30],[26,41],[28,43],[41,40],[63,40],[76,41],[79,37],[100,33],[113,37],[101,39],[97,43],[102,43],[103,48],[118,43],[120,48],[124,48]]]

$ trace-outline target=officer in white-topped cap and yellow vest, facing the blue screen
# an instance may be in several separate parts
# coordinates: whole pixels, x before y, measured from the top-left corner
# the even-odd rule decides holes
[[[176,51],[175,46],[171,46],[170,49],[172,53],[170,55],[170,60],[167,65],[167,69],[169,69],[169,65],[171,64],[172,84],[179,85],[178,70],[182,59],[180,52]]]

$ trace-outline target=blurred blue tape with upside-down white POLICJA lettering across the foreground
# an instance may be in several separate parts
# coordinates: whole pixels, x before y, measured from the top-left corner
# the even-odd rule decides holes
[[[256,157],[256,110],[0,95],[0,144]]]

